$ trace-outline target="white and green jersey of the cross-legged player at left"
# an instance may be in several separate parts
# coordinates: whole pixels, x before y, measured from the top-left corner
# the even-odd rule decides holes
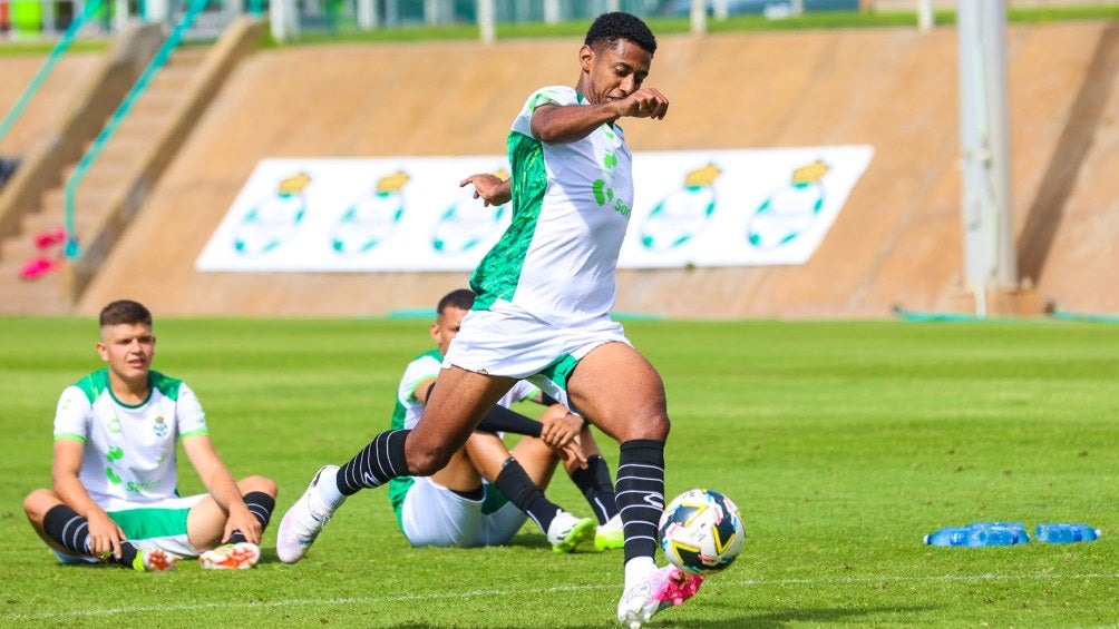
[[[102,507],[176,496],[177,439],[208,435],[206,414],[186,383],[151,371],[148,385],[147,400],[125,404],[113,395],[103,369],[67,387],[58,399],[55,440],[85,444],[78,477]]]

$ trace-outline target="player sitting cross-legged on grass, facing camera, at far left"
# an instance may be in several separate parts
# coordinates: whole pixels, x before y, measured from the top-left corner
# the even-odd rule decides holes
[[[206,569],[253,568],[276,486],[234,483],[185,382],[151,370],[151,313],[135,302],[101,311],[97,353],[107,369],[67,387],[55,413],[53,489],[23,511],[64,563],[103,561],[144,571],[182,557]],[[179,438],[209,494],[179,497]]]

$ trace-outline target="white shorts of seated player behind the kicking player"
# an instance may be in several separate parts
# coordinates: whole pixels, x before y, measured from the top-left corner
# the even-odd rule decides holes
[[[436,485],[425,476],[414,479],[401,505],[401,528],[413,546],[470,549],[506,544],[527,515],[508,501],[493,513],[482,513],[486,501],[471,501]],[[487,490],[492,487],[485,485]]]

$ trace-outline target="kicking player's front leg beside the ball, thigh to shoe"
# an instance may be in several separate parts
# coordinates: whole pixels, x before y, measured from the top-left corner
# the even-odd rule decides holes
[[[624,377],[619,377],[624,374]],[[665,505],[665,388],[652,364],[627,343],[599,345],[567,379],[572,408],[620,444],[617,502],[624,532],[626,584],[618,619],[639,627],[680,604],[702,578],[657,569],[657,523]]]

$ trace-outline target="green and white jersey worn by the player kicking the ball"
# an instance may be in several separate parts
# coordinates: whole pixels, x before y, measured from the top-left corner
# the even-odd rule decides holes
[[[633,206],[632,155],[620,126],[603,124],[567,144],[533,137],[537,105],[584,104],[571,87],[525,102],[509,132],[513,225],[470,278],[474,309],[511,302],[552,324],[608,315],[618,254]]]

